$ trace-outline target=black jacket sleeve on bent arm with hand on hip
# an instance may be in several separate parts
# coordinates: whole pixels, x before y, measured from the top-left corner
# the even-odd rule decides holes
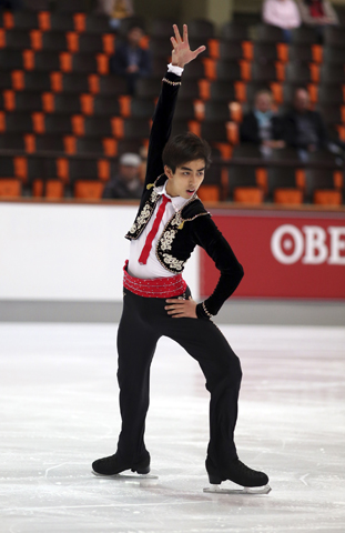
[[[194,242],[206,251],[221,272],[211,296],[196,305],[197,318],[210,319],[210,315],[215,315],[225,300],[239,286],[244,275],[243,266],[210,215],[197,217],[193,221],[193,238]]]

